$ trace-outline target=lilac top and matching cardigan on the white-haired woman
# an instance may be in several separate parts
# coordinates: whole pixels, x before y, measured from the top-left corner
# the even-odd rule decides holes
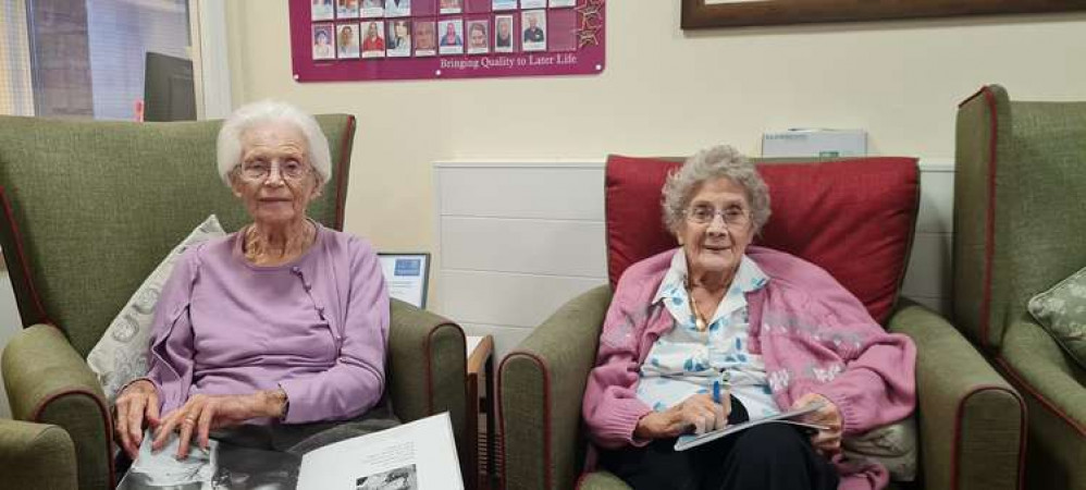
[[[155,311],[147,378],[161,414],[196,393],[282,387],[288,424],[346,419],[385,383],[388,293],[369,243],[318,225],[292,264],[257,267],[233,233],[189,248]],[[254,420],[267,422],[268,420]]]

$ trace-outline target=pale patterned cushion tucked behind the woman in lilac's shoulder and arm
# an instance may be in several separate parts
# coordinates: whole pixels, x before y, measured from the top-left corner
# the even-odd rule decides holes
[[[106,392],[110,403],[116,399],[118,391],[128,381],[147,373],[147,351],[155,305],[159,301],[162,285],[173,272],[177,258],[189,246],[225,234],[214,215],[196,226],[139,285],[110,323],[106,334],[87,355],[87,364],[98,376],[98,381],[102,384],[102,391]]]

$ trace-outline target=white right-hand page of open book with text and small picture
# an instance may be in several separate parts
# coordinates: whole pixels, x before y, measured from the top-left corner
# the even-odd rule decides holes
[[[299,490],[462,490],[448,413],[313,450]]]

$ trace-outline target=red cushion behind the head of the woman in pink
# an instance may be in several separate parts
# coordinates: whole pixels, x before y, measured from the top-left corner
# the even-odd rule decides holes
[[[678,246],[661,187],[681,162],[607,159],[607,268],[612,285],[634,262]],[[916,159],[878,157],[762,163],[773,216],[755,243],[817,264],[884,323],[909,260],[920,196]]]

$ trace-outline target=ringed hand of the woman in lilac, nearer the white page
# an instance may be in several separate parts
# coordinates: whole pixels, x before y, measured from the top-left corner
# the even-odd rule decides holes
[[[285,408],[286,393],[282,389],[246,395],[196,394],[162,419],[155,432],[151,450],[162,449],[170,433],[177,430],[181,443],[177,444],[176,457],[184,460],[188,456],[193,437],[197,437],[197,443],[207,450],[211,429],[236,426],[250,418],[281,417]]]

